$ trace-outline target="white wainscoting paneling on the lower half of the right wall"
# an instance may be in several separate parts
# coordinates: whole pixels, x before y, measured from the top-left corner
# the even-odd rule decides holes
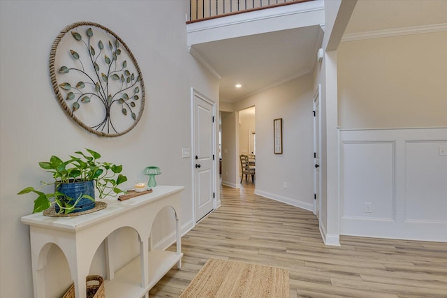
[[[340,234],[447,242],[447,128],[340,131]]]

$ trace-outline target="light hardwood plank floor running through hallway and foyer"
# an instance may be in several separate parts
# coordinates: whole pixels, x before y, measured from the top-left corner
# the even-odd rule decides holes
[[[221,207],[182,237],[182,269],[171,269],[150,297],[179,297],[208,258],[284,267],[290,297],[447,297],[446,243],[340,243],[323,244],[311,211],[254,195],[253,184],[222,186]]]

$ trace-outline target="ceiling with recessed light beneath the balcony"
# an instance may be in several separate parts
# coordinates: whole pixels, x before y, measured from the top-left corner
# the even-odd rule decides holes
[[[217,40],[193,48],[221,76],[219,100],[234,102],[312,73],[319,26]],[[237,89],[235,84],[242,84]]]

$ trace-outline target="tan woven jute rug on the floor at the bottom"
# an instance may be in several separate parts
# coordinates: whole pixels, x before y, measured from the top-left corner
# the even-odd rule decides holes
[[[288,298],[288,270],[210,259],[179,298]]]

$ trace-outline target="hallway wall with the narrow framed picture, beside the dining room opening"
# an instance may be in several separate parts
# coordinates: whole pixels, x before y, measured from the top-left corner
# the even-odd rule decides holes
[[[308,210],[314,206],[312,80],[307,75],[235,105],[236,110],[256,107],[255,193]],[[277,118],[283,119],[283,154],[273,153]]]

